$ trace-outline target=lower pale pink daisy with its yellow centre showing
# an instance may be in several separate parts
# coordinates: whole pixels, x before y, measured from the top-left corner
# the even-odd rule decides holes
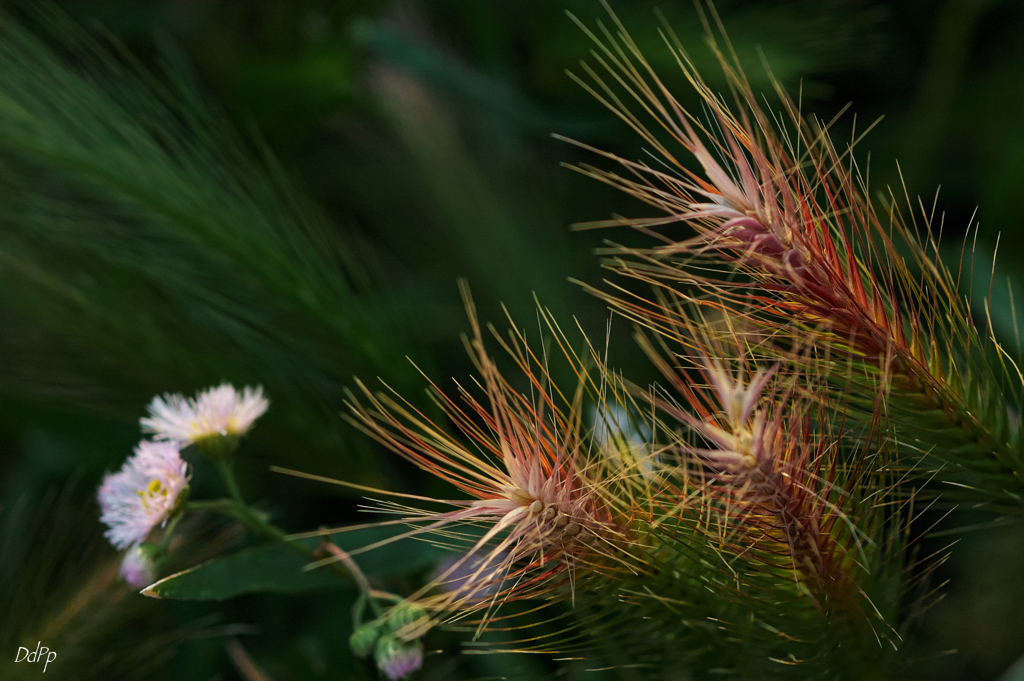
[[[167,521],[183,501],[188,465],[173,441],[142,440],[117,473],[108,473],[97,498],[103,537],[118,549],[139,544],[155,526]]]

